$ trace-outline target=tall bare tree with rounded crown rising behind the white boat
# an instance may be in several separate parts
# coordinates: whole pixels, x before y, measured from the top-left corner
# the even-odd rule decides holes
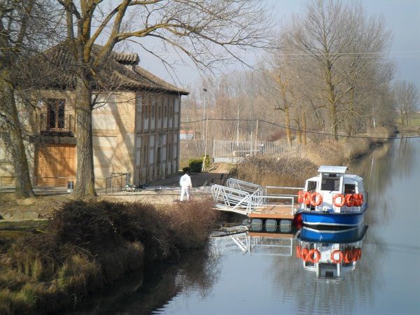
[[[318,109],[328,109],[335,139],[341,125],[349,133],[358,130],[378,69],[392,69],[385,62],[390,34],[384,22],[367,18],[357,2],[319,0],[308,4],[303,17],[293,17],[282,39],[294,66],[311,76],[310,102],[317,117]]]

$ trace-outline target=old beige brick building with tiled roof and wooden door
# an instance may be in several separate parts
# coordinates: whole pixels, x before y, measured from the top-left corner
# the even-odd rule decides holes
[[[48,52],[48,66],[57,73],[65,73],[68,60],[62,46]],[[113,174],[130,174],[130,181],[139,184],[177,173],[181,96],[188,92],[142,69],[137,54],[114,52],[101,78],[94,87],[92,111],[97,187],[104,187]],[[29,159],[36,185],[64,185],[76,177],[76,95],[71,82],[71,74],[55,76],[36,93],[39,137]]]

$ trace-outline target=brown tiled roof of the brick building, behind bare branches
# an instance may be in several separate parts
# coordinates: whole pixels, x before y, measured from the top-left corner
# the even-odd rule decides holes
[[[92,53],[99,50],[94,46]],[[149,71],[141,68],[137,53],[112,52],[104,66],[95,73],[93,88],[107,90],[149,90],[155,92],[174,92],[189,94],[175,85],[167,83]],[[69,48],[64,43],[47,50],[41,62],[38,62],[38,73],[43,73],[46,87],[73,88],[76,83],[76,68],[71,61]],[[45,83],[44,83],[45,84]]]

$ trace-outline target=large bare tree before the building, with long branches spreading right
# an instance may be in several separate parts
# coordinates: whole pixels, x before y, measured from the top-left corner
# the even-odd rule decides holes
[[[156,54],[141,38],[157,38],[202,69],[209,69],[217,60],[237,58],[237,48],[268,44],[265,38],[270,22],[262,1],[120,0],[109,10],[102,0],[57,1],[66,11],[67,44],[76,73],[76,197],[96,195],[91,83],[117,43],[130,38],[146,52]]]

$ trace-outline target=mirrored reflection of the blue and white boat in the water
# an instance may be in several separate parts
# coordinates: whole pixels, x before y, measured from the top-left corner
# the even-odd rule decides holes
[[[367,225],[347,230],[315,230],[304,227],[297,234],[296,257],[304,269],[320,279],[344,279],[362,257]]]

